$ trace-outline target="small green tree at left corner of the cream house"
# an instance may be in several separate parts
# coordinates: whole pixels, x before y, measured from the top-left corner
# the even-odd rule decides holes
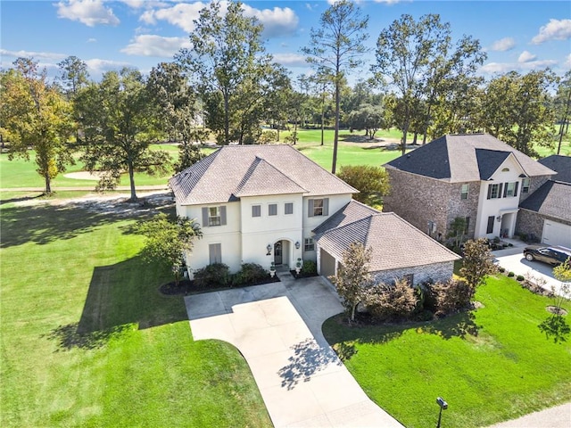
[[[172,219],[161,212],[150,220],[139,222],[137,232],[146,236],[143,258],[148,263],[170,268],[178,285],[181,268],[185,265],[185,251],[192,250],[194,238],[203,236],[194,219]]]

